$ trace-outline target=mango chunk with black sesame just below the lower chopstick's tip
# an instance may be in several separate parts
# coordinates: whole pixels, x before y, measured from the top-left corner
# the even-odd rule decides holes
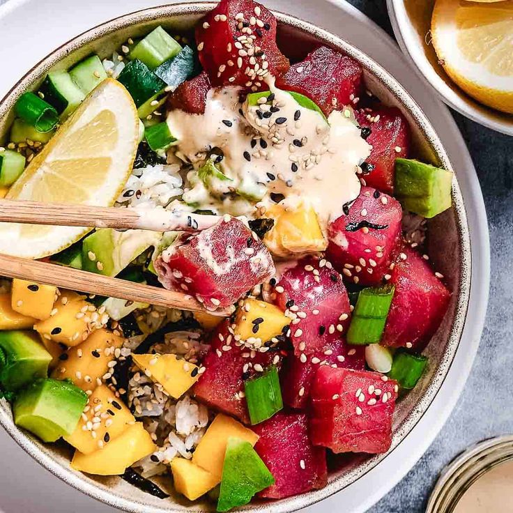
[[[246,299],[237,310],[233,332],[243,340],[259,338],[267,342],[281,335],[284,326],[290,323],[291,319],[277,306],[257,299]]]

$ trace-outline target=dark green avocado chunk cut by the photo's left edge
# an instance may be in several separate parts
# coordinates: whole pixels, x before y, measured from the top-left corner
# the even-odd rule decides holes
[[[45,378],[52,361],[52,355],[31,331],[0,331],[0,355],[0,384],[9,391]]]

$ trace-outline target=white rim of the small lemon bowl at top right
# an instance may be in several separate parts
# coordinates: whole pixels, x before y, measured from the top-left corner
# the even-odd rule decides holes
[[[496,132],[513,135],[513,114],[500,112],[480,104],[451,81],[454,84],[454,89],[452,89],[434,70],[424,53],[418,51],[418,45],[413,42],[411,36],[408,36],[411,24],[408,23],[409,17],[404,7],[404,0],[387,0],[387,8],[392,30],[401,51],[410,61],[415,73],[434,89],[436,95],[446,105],[472,121],[491,128],[491,130],[496,130]]]

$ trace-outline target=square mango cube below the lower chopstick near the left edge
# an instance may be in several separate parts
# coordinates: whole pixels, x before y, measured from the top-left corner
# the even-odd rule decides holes
[[[10,293],[10,305],[15,312],[44,320],[54,308],[57,287],[15,279]]]

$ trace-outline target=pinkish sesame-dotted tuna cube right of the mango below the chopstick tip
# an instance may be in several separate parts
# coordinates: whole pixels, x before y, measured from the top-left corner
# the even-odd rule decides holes
[[[291,340],[297,356],[319,351],[349,325],[351,307],[342,277],[326,260],[303,259],[286,270],[276,286],[275,303],[297,315]]]

